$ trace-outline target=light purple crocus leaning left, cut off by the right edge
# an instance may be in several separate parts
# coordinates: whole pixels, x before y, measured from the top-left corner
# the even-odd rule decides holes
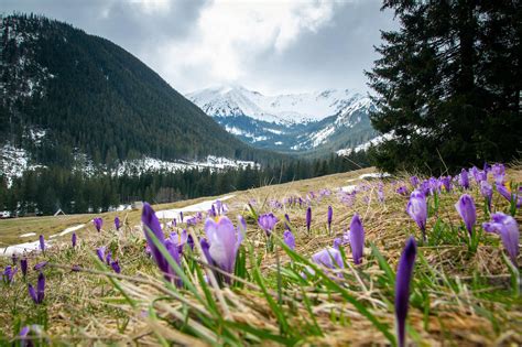
[[[508,251],[511,262],[518,268],[516,258],[519,256],[519,226],[513,217],[502,213],[491,215],[491,221],[482,224],[482,228],[488,232],[500,235],[502,243]]]

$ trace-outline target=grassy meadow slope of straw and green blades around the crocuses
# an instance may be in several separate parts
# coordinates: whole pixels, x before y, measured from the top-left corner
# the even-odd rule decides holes
[[[19,341],[20,332],[29,327],[26,336],[52,345],[394,345],[395,270],[413,235],[417,258],[410,292],[409,341],[423,346],[522,344],[520,274],[499,236],[482,230],[490,216],[472,176],[469,189],[454,182],[450,192],[428,194],[428,240],[423,242],[405,212],[410,194],[396,192],[401,186],[409,193],[413,189],[410,176],[361,178],[371,172],[365,169],[228,194],[233,196],[224,202],[226,215],[238,229],[238,215],[247,221],[233,275],[208,264],[199,242],[193,250],[187,242],[176,251],[183,252],[177,265],[171,263],[176,281],[165,280],[145,249],[141,210],[0,220],[0,247],[37,241],[40,235],[52,241],[45,252],[25,254],[25,276],[20,253],[18,272],[12,279],[3,276],[0,341]],[[507,185],[520,186],[522,167],[508,169],[505,178]],[[492,184],[491,174],[488,180]],[[468,232],[455,208],[463,194],[469,194],[477,207],[476,250],[468,245]],[[152,207],[160,212],[218,198]],[[512,208],[497,189],[491,212],[514,214],[518,225],[522,223],[520,209]],[[257,223],[268,213],[279,219],[270,238]],[[177,226],[172,219],[160,220],[165,236],[176,232],[177,245],[182,229],[193,239],[205,236],[206,213],[184,214],[184,223],[177,220]],[[294,251],[283,242],[285,214],[295,237]],[[360,264],[354,263],[345,234],[355,214],[366,236]],[[122,221],[119,230],[113,225],[116,216]],[[99,232],[94,217],[104,220]],[[195,225],[187,226],[187,219]],[[75,231],[75,248],[73,232],[50,238],[79,225],[85,227]],[[20,237],[30,232],[35,235]],[[316,252],[333,247],[335,239],[340,241],[340,265],[327,269],[311,261]],[[98,259],[100,247],[111,252],[112,261],[118,260],[120,273],[112,270],[111,261],[106,264]],[[0,257],[0,269],[12,262],[11,257]],[[39,278],[35,264],[42,264],[45,276],[45,297],[39,304],[28,293],[28,283],[35,285]]]

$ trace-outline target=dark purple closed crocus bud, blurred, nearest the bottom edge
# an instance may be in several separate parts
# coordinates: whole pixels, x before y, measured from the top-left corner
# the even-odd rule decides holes
[[[410,237],[406,246],[402,251],[401,259],[395,276],[395,324],[399,347],[405,346],[405,326],[407,307],[410,302],[410,282],[413,275],[413,267],[417,254],[417,246],[415,239]]]

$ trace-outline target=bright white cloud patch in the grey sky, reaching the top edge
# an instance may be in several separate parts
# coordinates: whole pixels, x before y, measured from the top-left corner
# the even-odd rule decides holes
[[[161,74],[183,86],[182,91],[202,88],[194,75],[207,84],[232,83],[248,73],[244,62],[265,51],[282,54],[305,32],[327,24],[333,1],[215,1],[204,8],[194,31],[182,41],[171,41],[151,52],[160,61]],[[154,59],[153,56],[150,57]]]

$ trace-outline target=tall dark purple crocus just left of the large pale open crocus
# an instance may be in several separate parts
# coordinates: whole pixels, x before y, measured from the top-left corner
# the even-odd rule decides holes
[[[183,220],[183,213],[180,213],[180,216]],[[172,240],[165,240],[163,230],[154,213],[154,209],[148,203],[143,205],[141,221],[143,223],[143,232],[145,234],[146,243],[150,247],[152,258],[154,259],[167,281],[175,280],[176,285],[181,285],[181,281],[176,275],[175,269],[171,267],[167,258],[163,256],[160,248],[156,246],[156,243],[154,243],[154,238],[156,239],[157,243],[163,245],[165,247],[170,257],[177,263],[178,267],[181,267],[181,256],[177,246],[174,245]]]

